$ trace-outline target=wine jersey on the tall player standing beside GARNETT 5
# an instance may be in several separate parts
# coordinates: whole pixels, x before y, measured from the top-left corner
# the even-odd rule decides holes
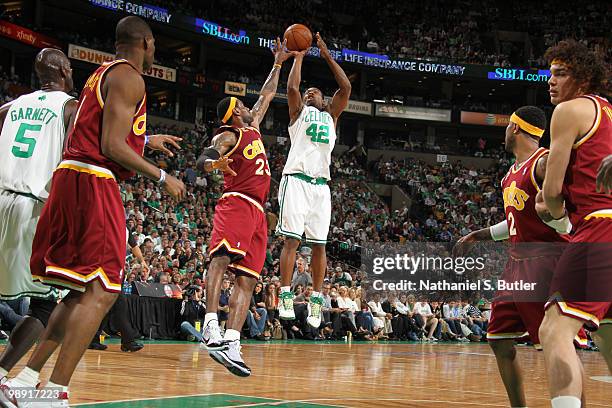
[[[102,110],[104,108],[102,83],[106,73],[119,64],[132,66],[124,59],[106,62],[100,65],[85,83],[79,98],[74,126],[68,135],[64,160],[75,160],[104,167],[119,179],[128,179],[134,175],[133,172],[102,154]],[[144,152],[145,131],[147,130],[146,110],[145,94],[134,112],[132,128],[125,135],[127,144],[139,155]]]

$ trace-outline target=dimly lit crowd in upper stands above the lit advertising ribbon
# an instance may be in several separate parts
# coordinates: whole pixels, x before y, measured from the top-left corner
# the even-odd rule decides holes
[[[165,6],[165,3],[157,0]],[[351,48],[396,58],[419,58],[458,63],[544,67],[549,45],[566,37],[588,41],[602,56],[611,56],[609,36],[612,12],[598,2],[580,8],[569,2],[545,1],[538,7],[521,2],[404,1],[380,3],[264,0],[240,3],[213,0],[175,2],[175,10],[204,17],[224,26],[251,29],[272,38],[299,21],[320,31],[330,46]],[[585,12],[586,11],[588,12]],[[520,15],[520,19],[511,18]],[[368,18],[366,16],[375,16]],[[436,16],[435,22],[431,17]],[[390,23],[401,21],[401,24]],[[527,33],[510,41],[495,30]]]

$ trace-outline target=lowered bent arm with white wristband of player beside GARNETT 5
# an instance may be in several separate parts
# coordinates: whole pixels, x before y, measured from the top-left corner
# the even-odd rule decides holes
[[[102,93],[105,101],[102,116],[102,153],[126,169],[152,180],[163,181],[166,191],[180,200],[185,194],[185,185],[146,161],[125,141],[132,127],[134,112],[144,97],[145,85],[142,77],[133,68],[121,64],[107,74]]]

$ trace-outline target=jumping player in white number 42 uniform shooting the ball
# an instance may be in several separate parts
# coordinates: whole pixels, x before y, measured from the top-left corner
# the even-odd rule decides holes
[[[294,319],[293,293],[290,284],[295,266],[296,250],[305,235],[312,245],[312,275],[314,292],[308,304],[308,324],[321,325],[323,297],[319,293],[327,268],[325,244],[331,220],[331,195],[327,183],[329,166],[336,143],[338,118],[346,108],[351,95],[351,83],[327,45],[317,33],[317,46],[321,57],[331,69],[338,90],[331,102],[325,102],[318,88],[308,88],[302,95],[302,62],[306,51],[298,53],[293,61],[287,82],[289,101],[289,136],[291,149],[283,169],[278,201],[280,215],[276,233],[285,237],[281,253],[281,294],[279,312],[282,319]]]

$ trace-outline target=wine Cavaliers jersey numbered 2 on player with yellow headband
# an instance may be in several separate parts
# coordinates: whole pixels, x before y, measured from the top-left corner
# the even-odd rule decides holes
[[[515,163],[502,179],[504,210],[510,242],[562,242],[567,241],[544,224],[535,210],[535,197],[540,191],[535,171],[538,159],[548,150],[540,147],[522,164]]]

